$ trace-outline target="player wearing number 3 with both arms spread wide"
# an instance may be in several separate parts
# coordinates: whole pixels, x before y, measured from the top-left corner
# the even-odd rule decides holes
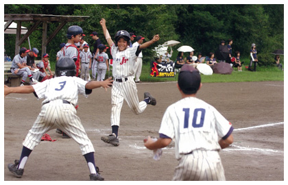
[[[86,96],[92,93],[93,88],[103,87],[106,89],[112,85],[112,80],[86,82],[75,77],[75,73],[75,62],[71,58],[62,57],[56,63],[57,77],[33,86],[16,88],[4,86],[4,96],[10,93],[34,93],[37,98],[44,99],[41,112],[23,141],[20,160],[15,160],[15,164],[8,164],[8,169],[16,177],[22,177],[27,159],[34,147],[40,143],[43,134],[59,128],[80,145],[82,155],[90,170],[90,180],[104,180],[97,172],[99,169],[97,170],[95,165],[93,144],[88,138],[80,118],[76,115],[74,105],[77,103],[78,93]]]

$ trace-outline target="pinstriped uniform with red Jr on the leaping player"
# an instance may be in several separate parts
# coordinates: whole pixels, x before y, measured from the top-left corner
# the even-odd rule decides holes
[[[140,101],[137,95],[137,88],[134,82],[134,64],[136,62],[136,51],[138,47],[128,47],[124,51],[119,51],[114,44],[111,46],[113,58],[112,75],[115,78],[111,93],[111,125],[120,125],[120,113],[123,100],[135,114],[139,114],[147,108],[145,101]],[[122,82],[117,82],[121,79]]]

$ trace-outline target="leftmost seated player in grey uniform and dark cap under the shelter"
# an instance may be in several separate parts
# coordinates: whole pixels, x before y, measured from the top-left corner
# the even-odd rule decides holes
[[[22,47],[19,50],[19,54],[14,56],[12,60],[11,73],[12,75],[19,75],[22,77],[20,86],[24,86],[27,77],[29,77],[31,84],[37,83],[37,80],[33,78],[30,69],[26,65],[27,53],[29,51],[29,49],[27,50],[25,47]]]

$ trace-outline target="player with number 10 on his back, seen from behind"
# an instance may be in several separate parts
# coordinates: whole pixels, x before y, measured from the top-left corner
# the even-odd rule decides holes
[[[218,152],[233,142],[233,127],[213,106],[197,99],[201,86],[199,72],[184,64],[178,76],[182,99],[167,108],[160,138],[156,142],[149,136],[144,140],[145,147],[154,150],[166,147],[175,138],[179,164],[173,180],[225,180]]]

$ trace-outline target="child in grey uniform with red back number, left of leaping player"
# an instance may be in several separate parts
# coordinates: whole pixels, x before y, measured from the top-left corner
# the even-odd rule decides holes
[[[106,75],[106,70],[109,69],[109,64],[108,64],[108,55],[106,53],[107,49],[109,47],[106,47],[106,45],[99,45],[99,53],[97,53],[97,81],[104,81],[105,75]]]

